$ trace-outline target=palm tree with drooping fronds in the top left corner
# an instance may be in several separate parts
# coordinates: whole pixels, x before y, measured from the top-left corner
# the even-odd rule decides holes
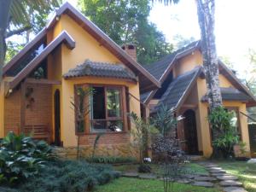
[[[60,3],[61,0],[0,0],[0,81],[6,52],[5,39],[32,28],[30,8],[44,13]]]

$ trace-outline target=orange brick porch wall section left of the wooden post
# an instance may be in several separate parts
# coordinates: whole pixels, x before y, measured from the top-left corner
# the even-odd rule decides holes
[[[4,134],[14,131],[16,134],[20,130],[20,89],[4,100]]]

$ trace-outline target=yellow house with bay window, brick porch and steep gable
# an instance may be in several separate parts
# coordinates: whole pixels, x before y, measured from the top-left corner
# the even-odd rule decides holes
[[[0,137],[9,131],[32,132],[73,153],[78,135],[81,145],[91,147],[97,133],[104,132],[99,141],[102,154],[131,155],[127,113],[140,116],[140,93],[160,88],[134,55],[134,46],[120,48],[64,3],[3,67]],[[79,89],[89,87],[93,94],[83,100]],[[90,101],[88,113],[78,107],[83,101]],[[81,114],[85,124],[79,121]]]

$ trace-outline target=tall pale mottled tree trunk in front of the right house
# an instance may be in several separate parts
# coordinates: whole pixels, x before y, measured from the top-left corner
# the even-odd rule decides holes
[[[222,106],[222,97],[218,79],[218,56],[215,45],[215,0],[195,0],[197,5],[198,22],[201,28],[201,51],[203,67],[207,81],[207,97],[210,112]],[[212,139],[218,138],[220,133],[212,130]],[[218,148],[213,146],[212,157],[218,157]]]

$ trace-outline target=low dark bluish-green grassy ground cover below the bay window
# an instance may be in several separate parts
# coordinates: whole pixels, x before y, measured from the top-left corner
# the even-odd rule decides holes
[[[116,177],[119,172],[113,171],[111,166],[91,165],[83,160],[60,160],[49,163],[38,177],[30,178],[19,189],[20,192],[84,192]]]

